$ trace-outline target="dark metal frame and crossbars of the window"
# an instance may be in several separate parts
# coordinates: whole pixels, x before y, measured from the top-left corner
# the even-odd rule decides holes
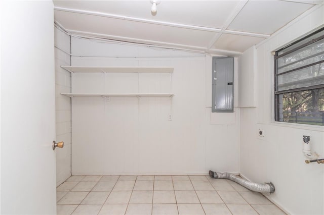
[[[293,53],[294,51],[296,50],[299,50],[307,45],[310,45],[312,43],[315,43],[321,39],[324,39],[324,34],[323,35],[319,35],[318,37],[316,38],[313,38],[313,39],[310,39],[307,41],[307,39],[311,36],[313,36],[314,34],[317,34],[319,32],[323,32],[324,33],[324,27],[320,28],[320,29],[317,29],[315,31],[313,31],[312,33],[309,33],[307,34],[306,36],[303,36],[302,38],[284,46],[284,47],[281,47],[279,49],[277,49],[276,51],[274,51],[274,56],[273,56],[273,61],[274,61],[274,73],[273,73],[273,96],[274,96],[274,122],[278,122],[278,123],[292,123],[292,122],[283,122],[283,121],[280,121],[280,107],[279,107],[279,102],[280,102],[280,99],[279,99],[279,96],[280,94],[284,94],[284,93],[290,93],[290,92],[300,92],[300,91],[306,91],[306,90],[312,90],[312,89],[321,89],[321,88],[324,88],[324,84],[317,84],[317,85],[311,85],[311,86],[306,86],[306,87],[298,87],[298,88],[293,88],[293,89],[287,89],[287,90],[277,90],[278,88],[278,76],[280,75],[284,75],[284,74],[289,74],[291,72],[294,72],[294,71],[297,71],[297,70],[301,70],[301,69],[304,69],[304,68],[308,68],[308,67],[311,67],[311,66],[314,66],[314,65],[317,65],[317,64],[322,64],[324,63],[324,60],[322,61],[319,61],[319,62],[315,62],[315,63],[311,63],[309,65],[306,65],[306,66],[302,66],[302,67],[298,67],[298,68],[295,68],[295,69],[292,69],[292,70],[288,70],[288,71],[285,71],[285,72],[281,72],[278,74],[278,65],[277,65],[277,59],[281,58],[281,57],[284,57],[286,55],[289,55],[290,53]],[[287,52],[285,53],[282,53],[281,55],[278,55],[278,52],[286,49],[286,48],[289,48],[291,47],[292,45],[295,45],[296,43],[299,43],[299,42],[302,42],[303,40],[305,40],[304,43],[301,43],[300,45],[288,50]],[[317,55],[322,55],[323,53],[322,52],[319,52],[319,53],[316,53],[316,55],[312,55],[312,56],[308,56],[307,58],[304,58],[302,60],[307,60],[311,57],[315,57]],[[302,61],[300,60],[300,61]],[[296,62],[293,62],[291,64],[295,64],[295,63],[298,63],[299,61],[296,61]],[[287,65],[286,65],[287,66]],[[272,112],[273,113],[273,112]],[[293,124],[297,124],[297,125],[308,125],[308,126],[316,126],[316,125],[312,125],[312,124],[305,124],[305,123],[293,123]],[[320,126],[323,126],[323,125],[320,125]]]

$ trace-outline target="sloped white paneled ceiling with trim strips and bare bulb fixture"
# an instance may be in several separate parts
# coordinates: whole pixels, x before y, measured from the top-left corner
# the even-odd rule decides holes
[[[70,34],[239,55],[323,1],[53,1]]]

